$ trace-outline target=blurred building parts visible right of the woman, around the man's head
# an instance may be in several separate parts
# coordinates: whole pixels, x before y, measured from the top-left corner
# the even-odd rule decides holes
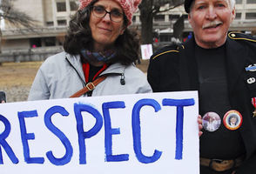
[[[162,7],[163,10],[168,8],[168,5]],[[183,6],[165,11],[154,17],[154,30],[158,33],[158,42],[171,42],[173,26],[181,16],[185,19],[184,37],[187,37],[192,28],[187,20],[188,15],[185,13]],[[133,23],[139,25],[139,14],[133,17]],[[230,30],[256,35],[256,0],[236,0],[236,18],[232,22]]]

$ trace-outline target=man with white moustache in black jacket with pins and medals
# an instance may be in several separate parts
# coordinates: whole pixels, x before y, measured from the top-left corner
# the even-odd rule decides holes
[[[200,137],[201,174],[255,173],[256,39],[228,33],[235,0],[185,0],[185,11],[193,37],[158,50],[148,81],[155,92],[199,90],[200,115],[213,111],[221,118],[218,130],[203,130]],[[231,131],[223,117],[233,112],[243,123]]]

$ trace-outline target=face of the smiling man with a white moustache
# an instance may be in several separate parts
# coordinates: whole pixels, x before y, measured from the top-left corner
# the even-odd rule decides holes
[[[230,0],[195,0],[188,16],[196,43],[217,48],[226,42],[228,28],[235,17]]]

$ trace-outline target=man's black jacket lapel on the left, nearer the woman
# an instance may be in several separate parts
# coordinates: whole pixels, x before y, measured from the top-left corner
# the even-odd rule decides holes
[[[192,37],[184,44],[179,57],[179,75],[181,90],[199,90],[199,77],[195,58],[195,41]]]

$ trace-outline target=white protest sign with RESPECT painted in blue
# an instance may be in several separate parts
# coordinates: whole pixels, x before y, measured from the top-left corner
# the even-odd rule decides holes
[[[196,91],[0,104],[1,174],[199,174]]]

